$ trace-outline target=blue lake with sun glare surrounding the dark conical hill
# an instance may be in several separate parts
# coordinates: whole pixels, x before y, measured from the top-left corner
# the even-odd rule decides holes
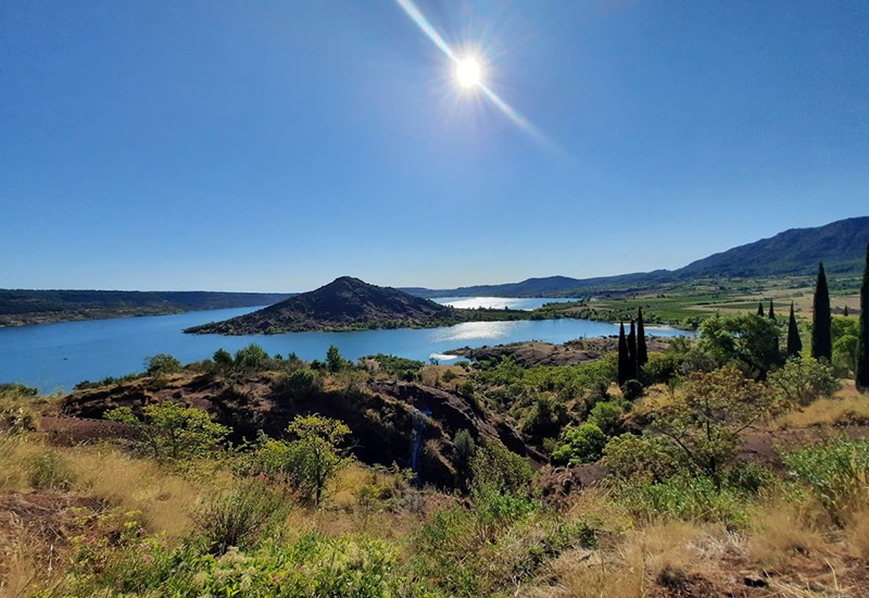
[[[442,298],[439,301],[458,299],[467,298]],[[517,301],[505,298],[488,299],[496,299],[502,307]],[[542,304],[552,299],[518,301],[537,301]],[[156,353],[171,353],[181,363],[187,363],[211,358],[219,348],[235,352],[251,342],[257,342],[270,354],[281,353],[286,357],[294,351],[305,360],[324,359],[329,345],[336,345],[348,359],[388,353],[423,361],[430,358],[449,361],[451,358],[446,354],[448,351],[457,347],[482,347],[520,340],[564,342],[581,337],[618,334],[616,324],[587,320],[466,322],[443,328],[268,336],[200,336],[182,333],[190,326],[226,320],[257,309],[261,308],[0,328],[0,382],[36,386],[42,393],[70,390],[84,379],[99,381],[106,376],[141,372],[144,358]],[[687,333],[647,327],[646,334],[677,336]]]

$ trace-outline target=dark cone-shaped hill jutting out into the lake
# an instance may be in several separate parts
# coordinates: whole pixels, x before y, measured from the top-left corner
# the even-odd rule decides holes
[[[185,332],[243,335],[423,327],[454,323],[457,315],[458,310],[434,301],[342,276],[262,310]]]

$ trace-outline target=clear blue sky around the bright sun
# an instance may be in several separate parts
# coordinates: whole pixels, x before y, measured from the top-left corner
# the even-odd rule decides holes
[[[406,2],[405,2],[406,3]],[[869,2],[0,2],[0,288],[451,288],[869,214]]]

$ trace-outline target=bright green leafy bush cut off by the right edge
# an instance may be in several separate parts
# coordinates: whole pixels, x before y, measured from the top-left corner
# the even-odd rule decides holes
[[[836,438],[785,452],[782,460],[834,519],[869,503],[869,438]]]

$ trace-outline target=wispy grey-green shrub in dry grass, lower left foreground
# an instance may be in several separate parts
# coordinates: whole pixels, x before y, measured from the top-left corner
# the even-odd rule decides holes
[[[254,546],[287,514],[286,497],[259,482],[213,495],[196,515],[206,550],[223,555],[230,547]]]

